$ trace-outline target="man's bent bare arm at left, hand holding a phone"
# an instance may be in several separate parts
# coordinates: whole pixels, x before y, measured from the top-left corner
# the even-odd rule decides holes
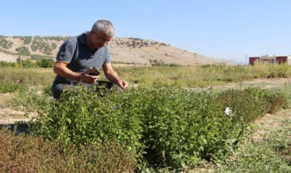
[[[64,77],[67,78],[69,80],[76,80],[78,82],[85,82],[87,84],[94,84],[99,76],[92,76],[92,75],[88,75],[88,73],[91,71],[91,68],[87,69],[87,71],[85,71],[82,74],[76,73],[71,71],[70,69],[67,68],[68,63],[67,62],[55,62],[55,66],[53,68],[53,71]]]

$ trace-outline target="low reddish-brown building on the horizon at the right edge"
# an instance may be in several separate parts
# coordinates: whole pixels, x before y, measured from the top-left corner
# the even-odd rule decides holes
[[[286,63],[288,65],[291,65],[291,55],[290,56],[262,55],[261,57],[249,57],[249,65],[254,66],[256,62],[270,62],[272,64]]]

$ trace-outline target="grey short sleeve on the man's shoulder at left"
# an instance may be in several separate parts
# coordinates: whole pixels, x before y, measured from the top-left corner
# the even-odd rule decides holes
[[[76,51],[76,44],[73,44],[71,41],[67,40],[62,44],[56,60],[59,62],[71,62],[73,54]]]

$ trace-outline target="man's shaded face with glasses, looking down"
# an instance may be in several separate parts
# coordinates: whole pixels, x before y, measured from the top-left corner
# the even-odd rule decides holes
[[[90,33],[91,43],[94,48],[102,48],[112,40],[112,37],[109,37],[104,32],[95,33],[94,31],[91,31]]]

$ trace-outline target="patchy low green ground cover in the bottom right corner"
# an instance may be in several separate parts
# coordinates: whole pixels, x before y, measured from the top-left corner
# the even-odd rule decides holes
[[[290,115],[289,112],[286,110],[266,118],[263,122],[272,122],[271,127],[258,123],[249,128],[253,133],[260,133],[247,138],[233,156],[236,159],[223,164],[218,172],[291,172],[291,120],[290,116],[284,118]]]

